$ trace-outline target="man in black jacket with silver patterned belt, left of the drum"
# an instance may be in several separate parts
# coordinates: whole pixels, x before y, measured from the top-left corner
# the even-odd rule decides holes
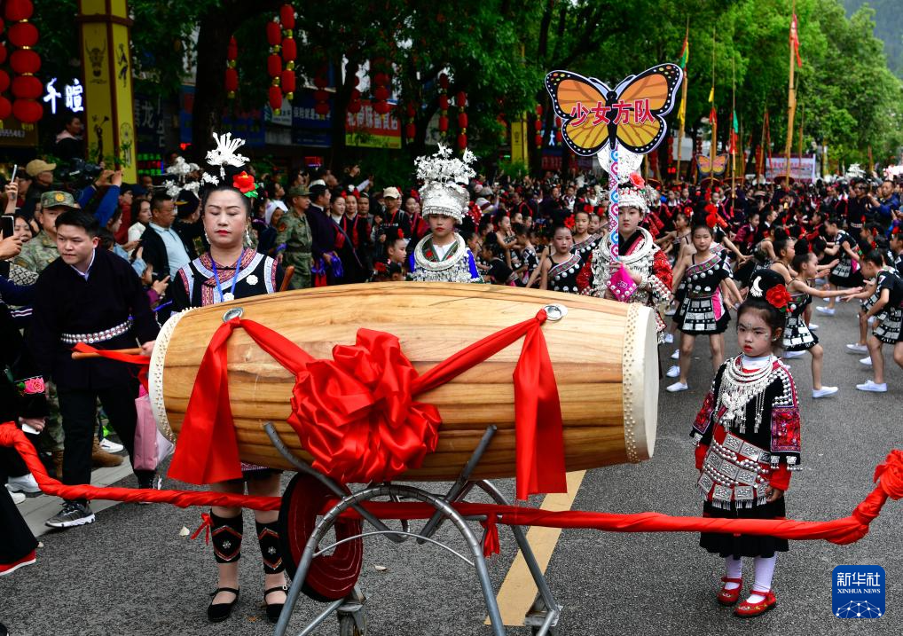
[[[147,295],[128,262],[98,249],[98,221],[81,210],[68,210],[56,221],[60,257],[38,278],[29,343],[43,377],[56,383],[66,438],[62,482],[90,483],[91,447],[97,401],[110,424],[135,450],[135,369],[107,359],[72,360],[71,349],[87,342],[98,349],[125,349],[141,343],[154,351],[159,325]],[[142,487],[150,487],[153,471],[135,471]],[[51,528],[70,528],[94,521],[88,501],[67,500],[48,519]]]

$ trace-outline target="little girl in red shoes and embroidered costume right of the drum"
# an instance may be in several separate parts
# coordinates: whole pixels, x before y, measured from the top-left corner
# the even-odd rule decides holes
[[[703,517],[787,516],[784,492],[790,472],[799,468],[800,416],[790,369],[774,351],[783,337],[788,301],[777,272],[759,269],[753,274],[749,297],[737,311],[737,342],[743,352],[718,369],[691,431]],[[719,603],[740,600],[742,559],[752,557],[751,593],[734,613],[757,616],[775,606],[771,579],[776,553],[787,552],[787,539],[703,532],[699,545],[724,558]]]

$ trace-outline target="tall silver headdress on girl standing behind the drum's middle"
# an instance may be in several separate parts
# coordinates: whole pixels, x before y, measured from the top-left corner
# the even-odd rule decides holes
[[[414,160],[417,178],[424,181],[424,187],[420,189],[424,217],[442,214],[461,222],[470,201],[464,186],[477,175],[470,167],[475,160],[470,150],[465,150],[461,159],[452,157],[452,149],[442,144],[436,154]]]

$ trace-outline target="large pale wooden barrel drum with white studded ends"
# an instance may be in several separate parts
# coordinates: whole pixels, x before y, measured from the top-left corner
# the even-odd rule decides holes
[[[150,368],[150,397],[164,435],[177,435],[200,360],[228,309],[263,323],[316,358],[333,345],[353,344],[360,327],[395,334],[423,373],[437,362],[547,304],[566,314],[543,326],[561,397],[567,470],[640,462],[656,443],[658,358],[656,322],[647,307],[580,295],[498,285],[384,283],[341,285],[256,296],[174,315],[163,325]],[[498,426],[474,479],[515,475],[512,373],[517,341],[448,384],[417,397],[442,415],[439,444],[423,465],[401,479],[454,479],[489,425]],[[228,380],[238,453],[248,463],[291,470],[270,444],[272,421],[306,459],[286,423],[293,376],[243,330],[228,342]]]

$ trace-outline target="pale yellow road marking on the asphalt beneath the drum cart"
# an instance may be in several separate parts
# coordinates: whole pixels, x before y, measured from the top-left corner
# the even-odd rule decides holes
[[[550,512],[561,512],[563,510],[571,510],[573,500],[577,496],[580,484],[586,471],[568,472],[567,474],[567,493],[554,493],[545,495],[540,509],[549,510]],[[499,528],[501,529],[501,528]],[[561,528],[530,528],[526,533],[526,541],[533,548],[533,554],[536,557],[536,563],[545,573],[549,561],[552,559],[552,553],[558,544],[558,538],[561,536]],[[526,567],[526,561],[520,550],[517,551],[517,557],[511,564],[502,586],[498,589],[498,610],[502,614],[502,622],[506,625],[515,627],[524,624],[524,617],[533,604],[536,596],[536,584],[530,570]],[[486,619],[489,624],[489,617]]]

